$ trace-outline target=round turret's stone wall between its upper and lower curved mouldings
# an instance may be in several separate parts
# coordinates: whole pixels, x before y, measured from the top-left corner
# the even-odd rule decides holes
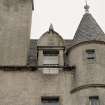
[[[95,49],[96,61],[87,62],[86,49]],[[82,44],[71,50],[69,64],[76,65],[73,74],[73,85],[78,87],[85,84],[105,84],[105,45],[104,44]]]

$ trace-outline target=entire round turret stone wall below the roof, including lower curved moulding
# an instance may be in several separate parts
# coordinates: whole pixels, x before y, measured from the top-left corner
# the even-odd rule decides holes
[[[85,50],[95,49],[96,61],[87,62]],[[69,64],[76,65],[71,73],[72,105],[89,105],[89,96],[99,96],[105,104],[105,45],[84,43],[69,52]]]

